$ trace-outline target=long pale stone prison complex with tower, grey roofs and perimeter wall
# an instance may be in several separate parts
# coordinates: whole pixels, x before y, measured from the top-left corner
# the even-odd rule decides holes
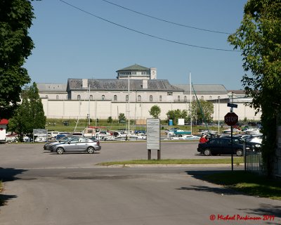
[[[156,68],[131,65],[117,70],[117,79],[68,79],[67,84],[37,84],[47,118],[117,119],[124,113],[132,120],[150,117],[153,105],[161,108],[160,118],[166,119],[169,110],[188,110],[190,100],[197,98],[214,103],[214,120],[223,120],[229,112],[229,91],[221,84],[170,84],[157,79]],[[191,90],[191,91],[190,91]],[[195,96],[196,94],[196,96]],[[249,101],[249,99],[247,100]],[[240,119],[259,120],[254,110],[241,98],[233,98],[239,106]]]

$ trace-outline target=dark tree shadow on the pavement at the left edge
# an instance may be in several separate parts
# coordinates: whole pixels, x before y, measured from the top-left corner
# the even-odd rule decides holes
[[[26,169],[13,169],[13,168],[1,168],[0,167],[0,181],[5,183],[7,181],[15,181],[17,179],[16,175],[22,174],[22,172],[27,171]],[[4,187],[5,189],[5,187]],[[17,198],[17,195],[5,195],[0,192],[0,207],[5,205],[8,200],[12,198]]]

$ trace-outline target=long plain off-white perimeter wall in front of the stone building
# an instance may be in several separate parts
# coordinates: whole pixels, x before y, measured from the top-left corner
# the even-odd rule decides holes
[[[90,114],[91,119],[106,120],[112,117],[113,120],[118,118],[119,113],[131,120],[146,119],[151,117],[149,110],[153,105],[158,105],[161,109],[161,120],[166,120],[166,113],[169,110],[188,110],[189,103],[126,103],[126,102],[112,102],[112,101],[63,101],[63,100],[48,100],[48,98],[41,99],[44,105],[44,112],[47,118],[53,119],[86,119]],[[239,120],[260,120],[261,113],[255,115],[254,110],[245,106],[244,103],[236,103],[237,108],[234,108],[234,113],[239,117]],[[214,103],[214,120],[224,120],[226,113],[230,112],[227,103]]]

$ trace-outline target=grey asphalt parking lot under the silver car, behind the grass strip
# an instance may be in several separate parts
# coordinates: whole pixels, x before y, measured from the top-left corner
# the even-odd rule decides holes
[[[161,143],[162,159],[206,158],[197,154],[197,141],[174,141]],[[99,152],[66,153],[58,155],[43,149],[44,143],[8,143],[0,145],[1,167],[57,168],[93,167],[99,162],[148,159],[146,141],[101,142]],[[211,156],[209,158],[229,158]],[[157,159],[157,150],[152,150],[152,159]]]

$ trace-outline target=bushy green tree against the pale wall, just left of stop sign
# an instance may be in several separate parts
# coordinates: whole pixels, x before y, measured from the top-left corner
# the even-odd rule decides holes
[[[214,113],[214,105],[209,101],[204,101],[202,99],[197,101],[192,101],[191,103],[191,115],[192,121],[199,122],[210,122],[212,120],[211,115]]]

